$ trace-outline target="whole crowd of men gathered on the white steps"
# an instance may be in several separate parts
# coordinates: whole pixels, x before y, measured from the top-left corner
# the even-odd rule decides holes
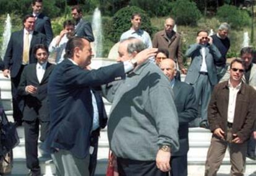
[[[11,77],[13,117],[25,130],[28,175],[41,175],[39,136],[58,175],[94,175],[107,121],[119,175],[187,175],[189,127],[213,133],[206,176],[216,175],[227,147],[231,175],[244,174],[245,156],[255,159],[256,66],[250,47],[226,65],[228,23],[213,36],[198,31],[185,53],[191,58],[186,69],[175,21],[166,19],[151,42],[134,13],[121,35],[117,64],[92,70],[94,36],[82,9],[72,7],[73,20],[53,38],[42,8],[43,0],[32,1],[32,14],[12,33],[3,63],[4,76]],[[102,96],[112,103],[109,118]]]

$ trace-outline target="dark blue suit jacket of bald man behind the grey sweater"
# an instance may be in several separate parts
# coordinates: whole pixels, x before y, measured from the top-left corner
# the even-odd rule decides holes
[[[173,86],[174,103],[179,117],[179,151],[172,156],[181,156],[189,151],[189,122],[197,117],[197,101],[194,88],[175,80]]]

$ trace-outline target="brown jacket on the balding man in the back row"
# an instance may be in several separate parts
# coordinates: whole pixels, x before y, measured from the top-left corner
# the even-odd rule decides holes
[[[183,54],[181,51],[181,35],[175,33],[169,40],[164,30],[158,31],[153,38],[153,48],[163,48],[169,51],[169,58],[174,59],[179,64],[179,69],[183,69]]]

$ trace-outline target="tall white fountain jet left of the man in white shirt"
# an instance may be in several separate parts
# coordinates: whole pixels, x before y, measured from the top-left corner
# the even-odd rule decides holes
[[[93,49],[95,57],[102,57],[102,26],[101,26],[101,12],[98,7],[93,12],[92,29],[95,41],[93,43]]]

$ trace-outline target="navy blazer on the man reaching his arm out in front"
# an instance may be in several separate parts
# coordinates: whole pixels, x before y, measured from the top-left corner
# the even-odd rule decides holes
[[[91,86],[109,83],[124,77],[124,64],[113,64],[98,70],[84,70],[64,59],[49,78],[49,135],[43,149],[69,150],[75,157],[89,154],[93,107]]]

